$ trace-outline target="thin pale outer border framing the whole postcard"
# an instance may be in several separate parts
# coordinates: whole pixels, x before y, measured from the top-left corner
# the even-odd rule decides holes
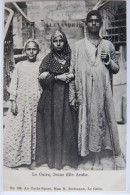
[[[130,195],[130,0],[127,1],[127,174],[126,174],[126,192],[108,192],[108,193],[88,193],[88,192],[59,192],[65,195],[68,194],[129,194]],[[32,194],[59,194],[58,192],[3,192],[3,40],[4,40],[4,1],[0,0],[0,195],[32,195]],[[109,181],[108,181],[109,182]]]

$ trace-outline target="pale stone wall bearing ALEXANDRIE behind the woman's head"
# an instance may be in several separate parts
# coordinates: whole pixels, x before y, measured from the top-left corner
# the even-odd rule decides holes
[[[35,36],[41,43],[42,54],[49,51],[52,33],[61,28],[72,47],[84,37],[82,19],[96,0],[89,1],[38,1],[27,2],[28,17],[35,21]]]

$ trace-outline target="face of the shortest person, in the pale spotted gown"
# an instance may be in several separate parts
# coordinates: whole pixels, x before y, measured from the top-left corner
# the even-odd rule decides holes
[[[25,48],[25,53],[29,61],[31,62],[36,61],[38,52],[39,50],[35,42],[27,43],[26,48]]]

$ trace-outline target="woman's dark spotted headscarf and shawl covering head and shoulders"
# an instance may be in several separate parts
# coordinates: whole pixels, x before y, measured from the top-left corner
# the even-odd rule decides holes
[[[61,36],[64,41],[64,45],[61,51],[57,51],[53,43],[54,39],[58,36]],[[52,34],[50,49],[51,52],[43,59],[39,68],[39,72],[42,73],[49,71],[56,75],[68,72],[70,67],[71,49],[65,34],[61,30],[57,30]],[[61,63],[63,61],[65,64]]]

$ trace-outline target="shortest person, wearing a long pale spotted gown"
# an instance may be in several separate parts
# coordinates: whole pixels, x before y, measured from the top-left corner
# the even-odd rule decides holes
[[[4,165],[8,167],[33,166],[35,161],[39,44],[29,39],[24,49],[27,60],[15,65],[10,85],[11,109],[4,131]]]

